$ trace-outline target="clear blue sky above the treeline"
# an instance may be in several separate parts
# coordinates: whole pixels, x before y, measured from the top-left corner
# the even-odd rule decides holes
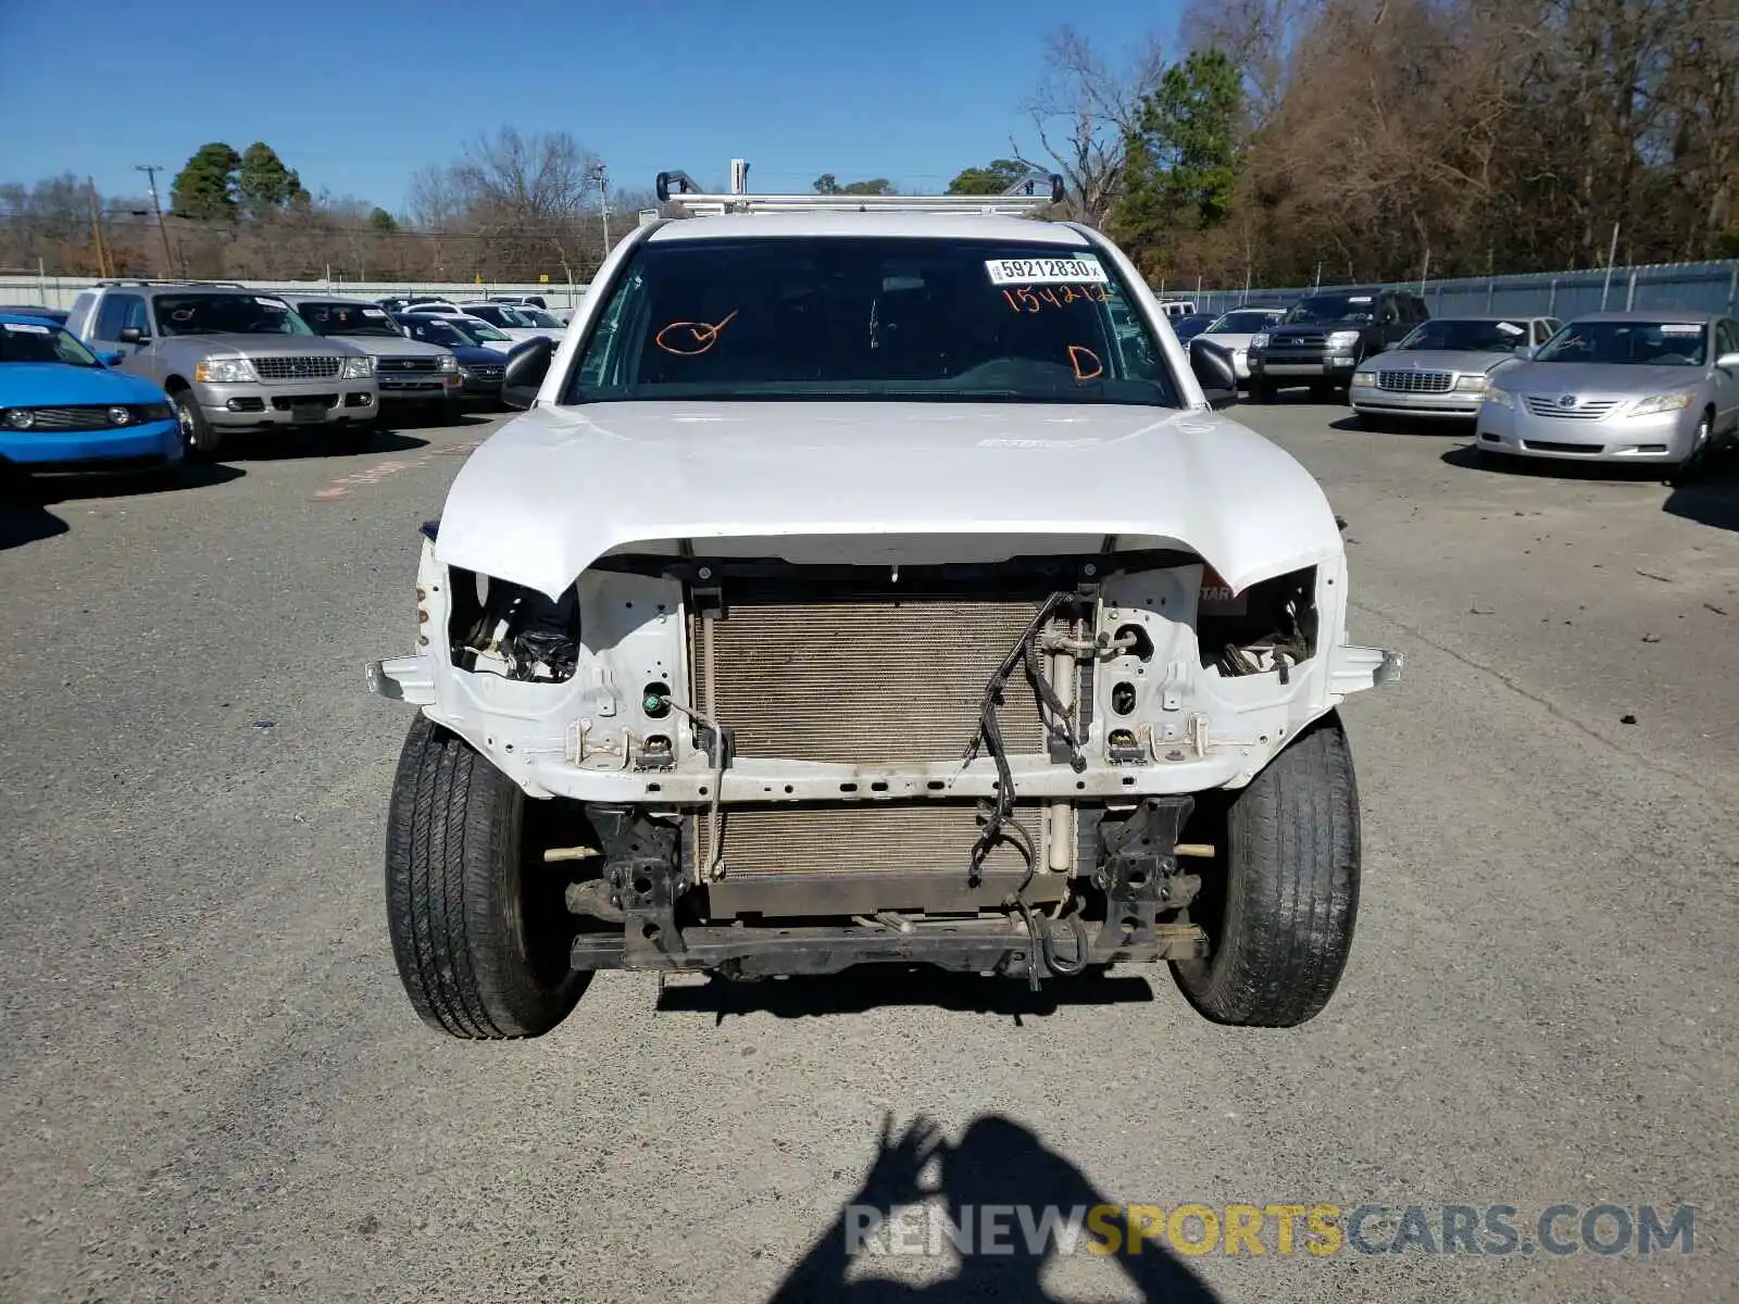
[[[1061,23],[1129,49],[1169,40],[1177,0],[0,0],[0,181],[139,195],[134,163],[259,139],[310,190],[396,209],[417,169],[515,125],[572,132],[624,188],[743,156],[760,190],[941,190],[1010,132],[1036,150],[1019,104]]]

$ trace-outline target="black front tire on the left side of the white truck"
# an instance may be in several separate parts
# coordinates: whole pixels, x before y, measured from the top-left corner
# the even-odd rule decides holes
[[[386,821],[386,925],[410,1005],[450,1036],[548,1033],[591,979],[569,963],[563,883],[523,831],[525,793],[419,713]]]

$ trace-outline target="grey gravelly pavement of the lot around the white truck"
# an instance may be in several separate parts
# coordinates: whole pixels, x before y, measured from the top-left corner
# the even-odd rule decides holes
[[[1739,473],[1494,473],[1461,433],[1240,414],[1346,518],[1355,642],[1407,654],[1348,708],[1353,961],[1283,1033],[1134,970],[603,974],[541,1041],[438,1038],[381,901],[409,715],[362,666],[409,650],[416,527],[496,422],[0,508],[0,1299],[1734,1299]],[[793,1280],[873,1165],[911,1179],[878,1142],[920,1116],[963,1205],[1696,1205],[1694,1252],[1269,1236]]]

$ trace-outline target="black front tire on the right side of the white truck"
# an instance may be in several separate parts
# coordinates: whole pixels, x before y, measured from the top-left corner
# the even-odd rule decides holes
[[[1214,1022],[1296,1028],[1334,995],[1358,916],[1358,788],[1339,715],[1233,795],[1223,836],[1191,911],[1212,955],[1172,975]]]

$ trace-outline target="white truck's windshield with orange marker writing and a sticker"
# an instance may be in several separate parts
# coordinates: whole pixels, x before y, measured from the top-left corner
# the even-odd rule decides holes
[[[1116,271],[1085,247],[654,238],[610,290],[565,402],[1179,407],[1160,358]]]

